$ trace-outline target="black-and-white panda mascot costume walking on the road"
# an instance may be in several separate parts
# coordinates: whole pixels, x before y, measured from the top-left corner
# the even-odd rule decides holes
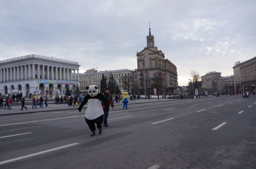
[[[88,95],[84,97],[82,104],[80,104],[78,110],[81,112],[83,106],[88,102],[87,109],[85,111],[85,121],[88,124],[92,134],[90,136],[95,135],[95,124],[97,124],[97,128],[99,128],[99,134],[102,133],[102,126],[104,119],[104,112],[101,106],[101,101],[104,104],[107,104],[107,101],[103,94],[99,94],[99,89],[95,85],[87,86]]]

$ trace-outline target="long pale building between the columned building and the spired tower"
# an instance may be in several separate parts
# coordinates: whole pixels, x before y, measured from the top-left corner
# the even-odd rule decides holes
[[[86,93],[86,86],[90,86],[92,84],[98,86],[99,91],[100,86],[101,86],[101,79],[102,75],[105,76],[107,79],[107,83],[109,81],[110,74],[113,74],[113,77],[121,90],[121,92],[124,92],[125,86],[124,83],[122,82],[123,77],[125,76],[130,76],[134,71],[129,70],[129,69],[120,69],[120,70],[105,70],[105,71],[98,71],[97,69],[88,69],[84,73],[79,74],[79,82],[80,82],[80,92]],[[112,94],[113,92],[110,91]]]

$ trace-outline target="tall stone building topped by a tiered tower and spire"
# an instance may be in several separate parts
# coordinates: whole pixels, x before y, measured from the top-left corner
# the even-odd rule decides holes
[[[147,36],[147,46],[137,52],[138,88],[140,94],[176,93],[178,87],[177,67],[155,46],[154,36]]]

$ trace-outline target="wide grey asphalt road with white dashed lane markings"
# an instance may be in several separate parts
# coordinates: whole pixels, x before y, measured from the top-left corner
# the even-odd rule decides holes
[[[256,97],[115,106],[90,137],[84,109],[0,116],[1,169],[255,169]]]

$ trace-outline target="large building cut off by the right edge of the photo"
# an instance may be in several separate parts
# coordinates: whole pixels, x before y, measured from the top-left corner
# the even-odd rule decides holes
[[[256,57],[240,63],[235,63],[233,67],[234,79],[235,79],[235,90],[237,92],[250,91],[256,92]]]

